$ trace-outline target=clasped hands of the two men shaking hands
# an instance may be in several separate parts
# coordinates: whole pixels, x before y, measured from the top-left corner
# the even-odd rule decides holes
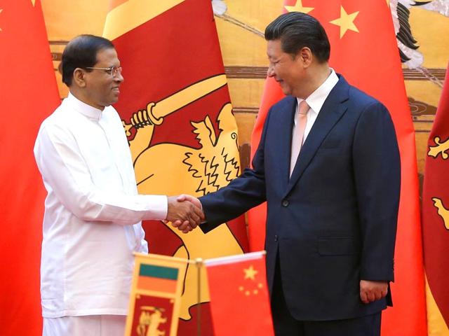
[[[171,222],[173,228],[183,233],[190,232],[204,221],[201,202],[191,195],[168,197],[168,210],[165,223]]]

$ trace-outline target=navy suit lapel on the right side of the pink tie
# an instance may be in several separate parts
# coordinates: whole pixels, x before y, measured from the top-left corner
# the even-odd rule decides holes
[[[328,135],[335,123],[340,120],[347,110],[346,102],[348,99],[348,90],[348,83],[342,76],[340,76],[338,83],[330,91],[323,107],[321,107],[321,111],[315,120],[314,126],[311,128],[306,141],[304,141],[304,144],[302,145],[295,169],[293,169],[293,174],[290,181],[288,181],[286,194],[290,193],[290,190],[302,176],[304,169],[307,168],[310,161],[314,158],[316,151],[318,151],[318,148],[326,138],[326,135]],[[288,160],[288,162],[290,162],[290,160]]]

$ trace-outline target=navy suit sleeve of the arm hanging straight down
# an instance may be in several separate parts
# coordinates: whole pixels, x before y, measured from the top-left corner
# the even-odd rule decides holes
[[[361,113],[353,158],[361,223],[361,279],[393,281],[401,160],[393,122],[380,102]]]

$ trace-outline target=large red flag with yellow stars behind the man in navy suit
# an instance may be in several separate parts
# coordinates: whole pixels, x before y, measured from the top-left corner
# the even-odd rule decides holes
[[[401,152],[401,204],[395,252],[394,307],[382,314],[382,335],[426,335],[422,235],[415,153],[415,133],[403,83],[401,62],[387,1],[286,0],[284,11],[317,18],[330,40],[330,66],[349,83],[387,106]],[[283,97],[267,80],[251,147],[257,148],[269,107]],[[248,216],[250,248],[263,246],[264,215]]]

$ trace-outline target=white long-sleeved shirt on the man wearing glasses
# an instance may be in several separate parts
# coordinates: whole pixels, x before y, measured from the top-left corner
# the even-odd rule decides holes
[[[43,217],[43,317],[125,315],[142,219],[164,219],[167,198],[138,195],[123,125],[69,94],[43,121],[34,156],[48,192]]]

